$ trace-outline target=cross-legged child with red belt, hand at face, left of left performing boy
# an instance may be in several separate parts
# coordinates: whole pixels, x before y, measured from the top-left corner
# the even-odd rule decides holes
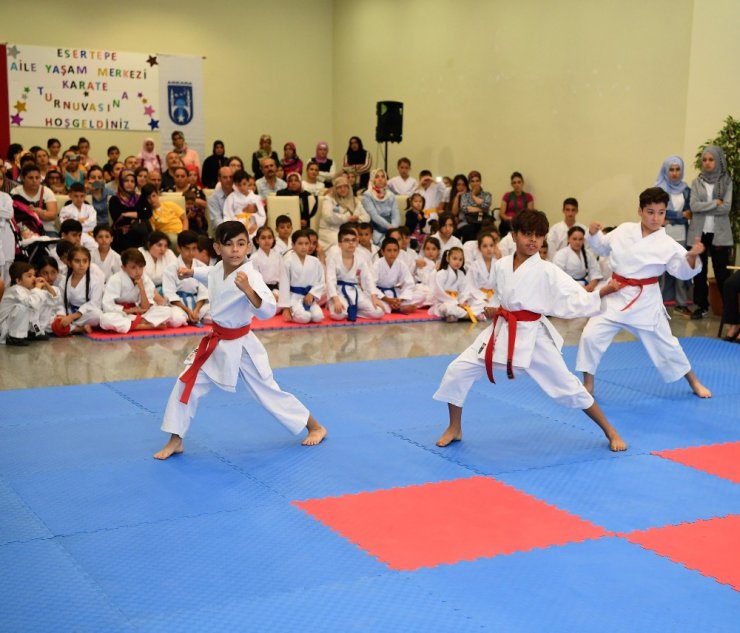
[[[146,260],[141,251],[127,248],[121,253],[123,268],[113,275],[103,292],[103,314],[100,327],[125,334],[131,330],[182,327],[187,317],[182,311],[154,301],[154,282],[144,272]]]

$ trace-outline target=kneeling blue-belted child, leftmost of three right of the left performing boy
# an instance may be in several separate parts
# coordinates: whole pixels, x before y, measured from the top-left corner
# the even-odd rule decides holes
[[[278,308],[286,321],[320,323],[324,312],[320,302],[326,293],[324,267],[308,254],[307,229],[293,233],[293,248],[282,258]]]

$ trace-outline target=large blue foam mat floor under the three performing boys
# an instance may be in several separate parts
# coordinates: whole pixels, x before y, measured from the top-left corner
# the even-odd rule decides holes
[[[315,448],[214,388],[164,463],[174,377],[0,392],[0,631],[734,630],[737,592],[621,539],[396,573],[290,503],[483,473],[613,531],[740,513],[736,485],[648,454],[740,440],[737,346],[682,343],[713,399],[664,387],[639,342],[607,352],[624,454],[505,374],[438,449],[452,356],[276,370],[327,425]]]

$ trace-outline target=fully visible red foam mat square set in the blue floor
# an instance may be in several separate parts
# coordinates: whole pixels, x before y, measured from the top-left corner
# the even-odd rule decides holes
[[[391,569],[403,571],[607,534],[490,477],[294,503]]]

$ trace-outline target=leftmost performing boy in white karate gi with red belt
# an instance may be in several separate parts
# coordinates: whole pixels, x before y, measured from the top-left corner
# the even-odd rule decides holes
[[[247,261],[246,227],[238,221],[223,222],[216,229],[215,238],[221,262],[207,268],[180,270],[180,276],[192,276],[208,286],[213,332],[201,340],[193,364],[180,374],[172,389],[162,421],[162,430],[170,433],[170,439],[154,457],[167,459],[182,453],[183,438],[200,398],[214,384],[234,391],[238,376],[289,431],[298,434],[308,429],[305,446],[319,444],[326,429],[295,396],[280,389],[265,348],[250,331],[252,318],[269,319],[275,314],[276,304],[272,291]]]

